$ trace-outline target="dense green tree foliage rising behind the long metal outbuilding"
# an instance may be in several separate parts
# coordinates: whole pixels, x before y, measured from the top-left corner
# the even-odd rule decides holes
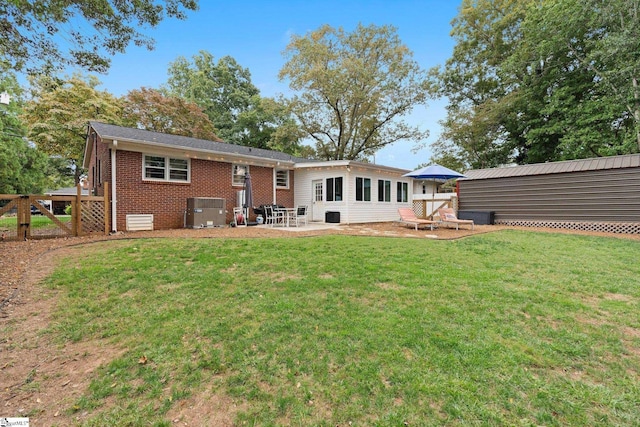
[[[463,1],[447,64],[436,157],[470,167],[640,150],[640,38],[633,0]]]

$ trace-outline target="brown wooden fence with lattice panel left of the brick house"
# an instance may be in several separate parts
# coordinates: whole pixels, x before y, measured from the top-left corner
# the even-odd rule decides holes
[[[2,240],[75,237],[91,233],[109,234],[109,188],[104,196],[0,194]],[[49,208],[44,201],[49,201]],[[71,216],[54,215],[54,205],[71,206]],[[51,210],[49,210],[51,209]]]

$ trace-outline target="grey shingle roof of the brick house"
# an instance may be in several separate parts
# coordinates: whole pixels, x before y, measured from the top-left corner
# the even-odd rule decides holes
[[[89,122],[89,125],[102,139],[139,142],[142,144],[157,144],[179,147],[193,151],[204,151],[217,154],[233,154],[238,156],[260,157],[282,162],[309,162],[311,160],[294,157],[279,151],[264,150],[262,148],[246,147],[244,145],[227,144],[188,136],[170,135],[148,130],[109,125],[100,122]]]

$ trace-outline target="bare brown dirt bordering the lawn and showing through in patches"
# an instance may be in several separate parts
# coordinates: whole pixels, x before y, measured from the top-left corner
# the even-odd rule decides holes
[[[52,272],[58,259],[70,254],[82,256],[93,250],[91,243],[132,238],[299,238],[323,234],[455,239],[505,228],[509,227],[476,226],[474,231],[447,228],[416,231],[393,223],[379,223],[297,232],[266,227],[181,229],[0,242],[0,416],[29,417],[31,425],[73,425],[81,421],[90,414],[74,412],[73,405],[86,392],[92,374],[123,354],[122,349],[100,341],[61,344],[53,342],[50,335],[44,333],[53,321],[57,292],[41,286],[40,281]],[[637,235],[537,231],[640,240]],[[82,252],[72,252],[70,248],[78,245],[81,245]],[[379,286],[394,289],[392,283],[381,283]],[[608,298],[615,299],[615,296],[609,295]],[[627,332],[637,337],[637,330]],[[411,357],[410,354],[406,356]],[[236,413],[242,410],[242,402],[220,396],[213,389],[206,389],[176,403],[169,411],[168,419],[176,425],[231,426]],[[437,406],[434,410],[438,411]]]

